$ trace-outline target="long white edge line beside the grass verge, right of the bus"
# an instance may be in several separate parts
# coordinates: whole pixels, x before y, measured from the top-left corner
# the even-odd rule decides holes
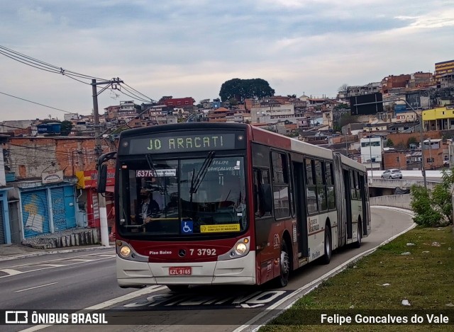
[[[394,209],[393,209],[394,210]],[[402,209],[404,210],[404,209]],[[402,211],[402,210],[396,210],[397,212],[402,212],[402,213],[405,213],[405,214],[409,214],[409,215],[414,215],[411,211]],[[397,236],[401,236],[402,234],[406,233],[407,231],[409,231],[410,229],[414,229],[416,227],[416,224],[412,224],[409,228],[405,229],[404,231],[401,231],[399,234],[396,234],[392,237],[390,237],[389,239],[387,239],[386,241],[383,241],[381,244],[379,244],[378,246],[376,246],[375,248],[372,248],[372,249],[369,249],[367,251],[364,251],[363,253],[358,253],[358,255],[356,255],[355,257],[353,258],[350,258],[348,261],[342,263],[341,265],[338,265],[338,267],[334,268],[333,270],[329,271],[328,273],[325,273],[324,275],[322,275],[321,277],[318,277],[316,280],[313,280],[311,282],[309,282],[308,284],[304,285],[303,287],[300,287],[299,289],[295,290],[294,292],[288,294],[286,297],[283,297],[282,299],[280,299],[278,302],[276,302],[275,304],[272,304],[270,307],[267,307],[266,309],[263,309],[263,311],[258,314],[257,316],[253,317],[252,319],[250,319],[249,321],[247,321],[245,324],[243,324],[242,326],[239,326],[238,328],[236,328],[235,330],[233,330],[232,332],[241,332],[241,331],[244,331],[246,328],[248,329],[248,331],[250,332],[257,332],[262,326],[265,326],[268,322],[272,321],[272,319],[275,319],[277,316],[279,316],[280,314],[282,314],[282,311],[285,311],[289,308],[291,308],[299,299],[301,299],[301,297],[304,297],[304,295],[306,294],[309,294],[310,292],[312,292],[313,290],[316,289],[316,287],[319,286],[319,284],[323,281],[323,280],[326,280],[328,279],[329,277],[333,277],[334,275],[337,275],[338,273],[340,273],[341,271],[345,270],[345,268],[347,268],[347,266],[354,262],[354,261],[357,261],[358,259],[364,257],[364,256],[367,256],[367,255],[370,255],[371,253],[373,253],[374,251],[377,250],[378,247],[380,246],[384,246],[385,244],[388,244],[389,242],[391,242],[392,240],[396,239]],[[306,292],[304,292],[306,291]],[[301,292],[303,292],[302,294],[300,294]],[[298,295],[298,296],[297,296]],[[263,324],[261,325],[258,325],[257,327],[255,327],[254,329],[250,329],[250,326],[253,326],[253,324],[258,321],[259,319],[261,319],[263,316],[267,315],[269,312],[271,312],[270,310],[272,309],[275,309],[277,307],[279,307],[282,303],[286,302],[287,300],[289,299],[292,299],[292,297],[295,297],[294,300],[289,304],[287,305],[287,307],[285,307],[284,309],[280,309],[278,310],[277,314],[273,315],[272,317],[270,317],[270,319],[267,319]],[[267,312],[268,311],[268,312]]]

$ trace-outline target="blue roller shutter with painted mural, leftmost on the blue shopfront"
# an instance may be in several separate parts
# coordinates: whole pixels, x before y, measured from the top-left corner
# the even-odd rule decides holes
[[[22,192],[21,199],[24,237],[50,233],[46,190]]]

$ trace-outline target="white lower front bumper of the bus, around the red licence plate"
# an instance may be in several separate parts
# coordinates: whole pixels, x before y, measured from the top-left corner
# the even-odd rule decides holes
[[[170,275],[170,268],[191,268],[191,275]],[[148,263],[116,256],[116,275],[121,287],[143,285],[255,285],[255,251],[226,261],[201,263]]]

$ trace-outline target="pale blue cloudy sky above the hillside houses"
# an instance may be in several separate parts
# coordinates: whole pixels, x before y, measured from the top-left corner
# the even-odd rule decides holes
[[[335,97],[343,84],[454,59],[453,0],[4,0],[0,21],[1,47],[119,77],[154,100],[218,98],[234,78],[265,79],[276,95]],[[91,80],[82,81],[0,54],[0,121],[88,115]],[[142,103],[106,90],[100,113],[132,99]]]

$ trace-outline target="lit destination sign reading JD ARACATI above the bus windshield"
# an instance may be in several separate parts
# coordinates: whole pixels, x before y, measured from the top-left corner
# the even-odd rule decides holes
[[[236,134],[186,134],[172,137],[133,138],[130,154],[162,154],[167,152],[211,151],[235,149]]]

